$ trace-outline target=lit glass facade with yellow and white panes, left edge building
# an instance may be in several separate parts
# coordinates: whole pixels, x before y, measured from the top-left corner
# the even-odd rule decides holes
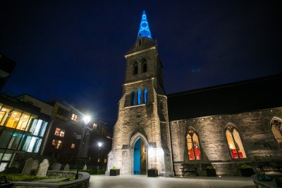
[[[0,103],[0,172],[16,151],[38,153],[47,124],[35,114]]]

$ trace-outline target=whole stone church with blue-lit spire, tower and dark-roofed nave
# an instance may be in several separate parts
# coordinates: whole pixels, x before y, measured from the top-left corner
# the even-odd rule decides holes
[[[123,95],[106,174],[181,175],[182,164],[205,175],[240,175],[238,166],[281,164],[281,74],[166,95],[163,64],[145,11],[125,54]]]

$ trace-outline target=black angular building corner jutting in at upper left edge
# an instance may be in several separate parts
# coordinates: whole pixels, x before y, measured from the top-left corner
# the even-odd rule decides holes
[[[4,54],[0,54],[0,90],[3,88],[15,66],[15,61],[8,59]]]

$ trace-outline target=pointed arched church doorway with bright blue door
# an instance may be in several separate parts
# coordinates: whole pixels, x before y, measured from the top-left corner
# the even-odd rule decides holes
[[[146,147],[142,139],[137,139],[133,152],[133,174],[146,175]]]

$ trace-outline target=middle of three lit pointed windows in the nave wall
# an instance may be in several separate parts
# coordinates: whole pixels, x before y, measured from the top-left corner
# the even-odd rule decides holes
[[[226,139],[231,153],[231,158],[246,158],[246,153],[240,139],[239,132],[231,124],[228,124],[226,127]]]

